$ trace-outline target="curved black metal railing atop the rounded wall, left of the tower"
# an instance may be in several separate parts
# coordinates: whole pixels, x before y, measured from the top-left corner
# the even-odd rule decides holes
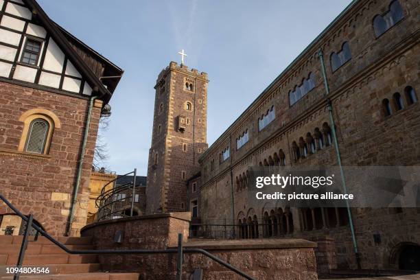
[[[121,178],[125,178],[130,174],[133,174],[131,181],[117,185],[118,180],[121,180]],[[98,209],[96,221],[139,215],[139,210],[135,210],[135,200],[137,195],[139,198],[139,201],[137,202],[140,202],[138,188],[141,184],[136,183],[136,177],[137,170],[135,169],[127,174],[117,176],[117,178],[111,180],[102,187],[101,194],[95,200],[95,205]]]

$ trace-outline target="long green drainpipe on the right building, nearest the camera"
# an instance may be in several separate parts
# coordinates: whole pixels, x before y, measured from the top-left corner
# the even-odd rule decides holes
[[[332,137],[334,139],[334,146],[336,147],[337,163],[338,163],[338,166],[340,167],[342,188],[343,188],[344,193],[347,194],[347,185],[346,185],[345,173],[344,173],[344,170],[342,168],[340,147],[338,146],[338,139],[337,139],[337,134],[336,134],[336,123],[334,122],[334,115],[333,115],[333,108],[332,108],[332,105],[331,105],[331,100],[329,100],[329,98],[328,98],[329,86],[328,86],[328,80],[327,80],[327,72],[325,71],[324,55],[323,55],[323,50],[322,49],[319,49],[318,56],[319,56],[319,60],[320,60],[320,64],[321,64],[321,72],[323,73],[323,78],[324,78],[324,84],[325,84],[325,95],[324,95],[324,97],[325,97],[325,100],[327,100],[329,121],[331,121],[331,132],[332,132]],[[358,250],[358,243],[357,243],[357,240],[356,240],[356,237],[355,237],[353,218],[351,217],[351,209],[350,209],[349,200],[346,200],[346,208],[347,208],[347,215],[349,215],[351,240],[353,241],[353,250],[354,250],[354,253],[355,253],[355,260],[356,260],[356,264],[358,264],[358,269],[360,269],[361,268],[361,266],[360,266],[360,255],[359,255],[359,250]]]

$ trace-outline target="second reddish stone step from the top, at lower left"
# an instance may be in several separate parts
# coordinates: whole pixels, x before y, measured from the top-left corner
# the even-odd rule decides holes
[[[95,250],[93,245],[66,245],[71,250]],[[19,255],[21,244],[3,244],[0,246],[0,255]],[[65,250],[56,244],[38,244],[30,242],[25,251],[25,255],[45,255],[45,254],[67,254]]]

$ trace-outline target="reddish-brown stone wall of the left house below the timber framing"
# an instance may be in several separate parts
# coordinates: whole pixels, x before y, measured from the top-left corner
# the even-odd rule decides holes
[[[78,235],[86,224],[101,104],[96,102],[93,108],[72,235]],[[24,214],[33,213],[53,235],[65,233],[88,106],[89,100],[79,97],[0,83],[1,194]],[[61,122],[45,155],[17,151],[23,130],[19,117],[32,108],[49,110]],[[10,209],[2,204],[0,213],[10,213]]]

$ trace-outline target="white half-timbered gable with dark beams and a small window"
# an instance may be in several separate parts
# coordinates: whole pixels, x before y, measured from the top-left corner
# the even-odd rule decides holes
[[[21,0],[0,0],[0,78],[91,95],[95,84],[75,67],[80,62],[72,61],[38,16]]]

